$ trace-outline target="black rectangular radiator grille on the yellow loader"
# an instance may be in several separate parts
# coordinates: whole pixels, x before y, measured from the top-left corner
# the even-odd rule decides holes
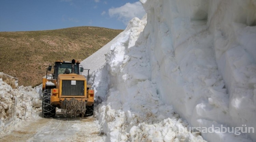
[[[74,85],[75,84],[75,85]],[[62,80],[62,92],[63,96],[84,96],[84,81],[83,80]]]

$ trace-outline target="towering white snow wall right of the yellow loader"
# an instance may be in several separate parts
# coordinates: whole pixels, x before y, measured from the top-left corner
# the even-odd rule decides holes
[[[256,141],[256,1],[141,2],[147,23],[132,19],[93,73],[106,141],[202,141],[191,127]],[[188,131],[167,135],[170,124]]]

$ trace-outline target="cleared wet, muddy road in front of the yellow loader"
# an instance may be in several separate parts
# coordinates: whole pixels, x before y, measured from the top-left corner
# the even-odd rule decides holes
[[[0,138],[1,142],[101,142],[102,136],[93,116],[64,117],[25,121],[13,132]]]

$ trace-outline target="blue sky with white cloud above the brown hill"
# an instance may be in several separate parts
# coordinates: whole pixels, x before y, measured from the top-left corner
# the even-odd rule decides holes
[[[130,19],[144,15],[139,0],[0,0],[0,31],[125,29]]]

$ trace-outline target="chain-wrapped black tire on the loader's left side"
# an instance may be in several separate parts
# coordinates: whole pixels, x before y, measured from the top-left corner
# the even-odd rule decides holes
[[[56,114],[56,107],[50,105],[51,103],[51,89],[45,89],[42,100],[42,116],[54,117]]]

